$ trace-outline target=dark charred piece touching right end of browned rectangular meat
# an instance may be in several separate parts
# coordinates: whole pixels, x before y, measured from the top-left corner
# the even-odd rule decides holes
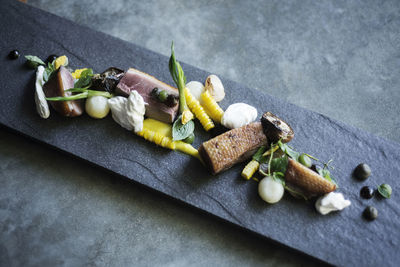
[[[282,142],[287,143],[294,137],[290,125],[271,112],[264,113],[261,117],[261,123],[269,142],[276,143],[282,140]]]

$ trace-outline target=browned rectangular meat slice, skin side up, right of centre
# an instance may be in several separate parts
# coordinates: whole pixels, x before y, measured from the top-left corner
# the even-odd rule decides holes
[[[199,153],[213,174],[229,169],[250,158],[255,150],[267,144],[260,122],[232,129],[204,142]]]

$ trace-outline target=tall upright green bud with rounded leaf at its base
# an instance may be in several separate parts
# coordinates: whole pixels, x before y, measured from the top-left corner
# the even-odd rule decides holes
[[[174,42],[171,44],[171,57],[169,58],[169,72],[179,90],[179,116],[172,126],[172,139],[183,140],[194,131],[193,114],[186,104],[185,85],[186,76],[181,64],[175,59]]]

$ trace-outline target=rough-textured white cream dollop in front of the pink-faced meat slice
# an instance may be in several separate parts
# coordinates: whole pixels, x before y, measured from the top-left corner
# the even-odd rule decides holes
[[[128,98],[116,96],[109,99],[108,105],[113,119],[123,128],[135,132],[143,130],[145,102],[136,90],[132,91]]]

